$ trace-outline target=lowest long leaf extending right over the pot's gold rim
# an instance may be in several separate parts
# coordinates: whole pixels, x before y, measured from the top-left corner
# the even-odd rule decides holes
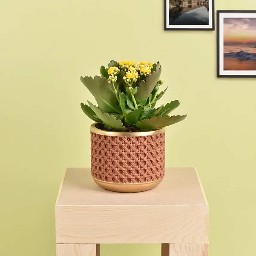
[[[187,115],[160,115],[159,117],[152,117],[150,119],[137,121],[136,126],[142,131],[156,130],[168,125],[176,124],[184,120],[186,117]]]

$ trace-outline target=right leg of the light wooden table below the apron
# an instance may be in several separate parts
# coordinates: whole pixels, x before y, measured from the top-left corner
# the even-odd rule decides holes
[[[208,256],[208,243],[169,244],[169,256]]]

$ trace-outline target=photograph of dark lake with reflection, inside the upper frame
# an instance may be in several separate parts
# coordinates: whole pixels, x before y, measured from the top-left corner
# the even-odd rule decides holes
[[[169,0],[169,25],[209,25],[209,0]]]

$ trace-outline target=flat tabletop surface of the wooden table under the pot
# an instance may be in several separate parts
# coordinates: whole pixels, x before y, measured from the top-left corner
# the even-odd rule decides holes
[[[207,205],[194,167],[167,167],[161,184],[141,193],[100,188],[90,168],[68,168],[56,205]]]

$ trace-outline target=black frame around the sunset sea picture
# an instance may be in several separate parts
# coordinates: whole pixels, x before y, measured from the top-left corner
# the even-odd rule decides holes
[[[217,10],[217,33],[216,33],[216,48],[217,48],[217,77],[218,78],[255,78],[255,75],[240,75],[240,74],[232,74],[232,75],[223,75],[220,74],[220,13],[256,13],[256,10]],[[256,16],[255,16],[256,18]],[[235,72],[236,70],[234,70]]]

